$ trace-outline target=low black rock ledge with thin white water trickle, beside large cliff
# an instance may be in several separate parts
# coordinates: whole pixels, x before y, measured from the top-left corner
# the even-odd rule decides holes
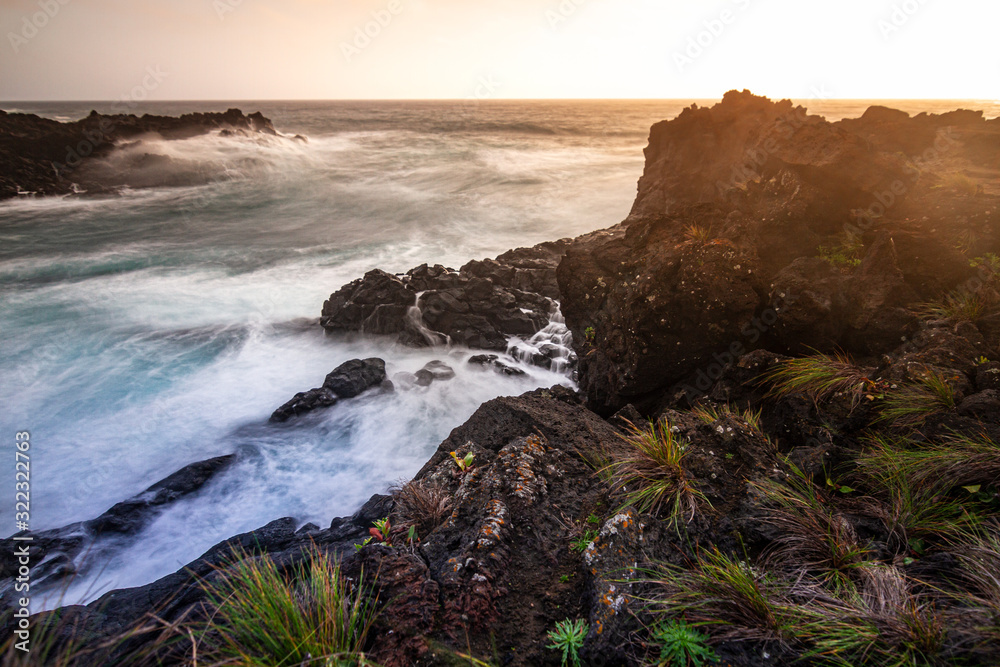
[[[392,335],[408,345],[451,342],[506,351],[556,308],[555,269],[568,241],[543,243],[469,262],[455,271],[426,264],[402,275],[375,269],[332,294],[321,324],[331,333]]]

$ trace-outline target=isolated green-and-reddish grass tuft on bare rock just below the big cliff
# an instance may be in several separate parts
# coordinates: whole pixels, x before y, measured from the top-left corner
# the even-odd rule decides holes
[[[698,501],[705,501],[684,471],[687,446],[661,419],[640,428],[629,423],[622,436],[628,445],[608,465],[612,488],[625,496],[623,505],[635,505],[641,512],[665,511],[668,523],[679,529],[698,513]]]

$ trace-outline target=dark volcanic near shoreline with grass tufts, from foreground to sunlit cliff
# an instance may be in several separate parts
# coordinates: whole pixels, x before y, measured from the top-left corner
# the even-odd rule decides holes
[[[830,123],[728,93],[653,126],[621,224],[457,271],[375,270],[323,306],[331,335],[499,355],[558,302],[579,393],[490,401],[354,516],[276,520],[64,618],[98,646],[155,615],[156,632],[93,664],[142,647],[150,664],[189,664],[183,633],[158,638],[211,614],[206,582],[234,547],[288,571],[316,545],[351,577],[377,573],[368,650],[386,667],[558,665],[548,633],[575,619],[587,665],[656,664],[682,619],[723,664],[990,664],[998,255],[1000,120],[872,107]],[[479,362],[504,372],[499,356]],[[349,362],[272,420],[390,390],[381,360]],[[70,573],[80,535],[137,529],[228,459],[206,463],[45,536],[35,562]],[[635,495],[648,479],[676,502]],[[395,530],[366,544],[384,518]],[[14,567],[0,561],[8,604]]]

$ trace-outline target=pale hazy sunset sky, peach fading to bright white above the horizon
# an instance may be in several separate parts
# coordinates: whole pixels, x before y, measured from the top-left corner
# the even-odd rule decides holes
[[[0,100],[1000,99],[997,0],[0,0]]]

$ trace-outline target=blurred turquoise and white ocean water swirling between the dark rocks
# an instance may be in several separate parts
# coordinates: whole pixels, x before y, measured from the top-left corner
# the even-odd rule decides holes
[[[470,370],[469,350],[329,338],[309,320],[372,268],[458,268],[616,224],[635,196],[649,126],[689,104],[140,104],[129,110],[261,111],[287,136],[143,145],[201,185],[0,202],[0,434],[31,433],[32,529],[94,518],[187,464],[240,454],[134,539],[98,541],[45,605],[149,583],[280,517],[325,526],[411,477],[481,403],[573,386],[538,368],[523,378]],[[803,104],[836,120],[870,102]],[[996,102],[885,104],[1000,114]],[[0,108],[71,120],[122,107]],[[385,359],[390,377],[435,359],[457,376],[267,424],[296,392],[368,356]],[[3,517],[13,516],[10,470]]]

